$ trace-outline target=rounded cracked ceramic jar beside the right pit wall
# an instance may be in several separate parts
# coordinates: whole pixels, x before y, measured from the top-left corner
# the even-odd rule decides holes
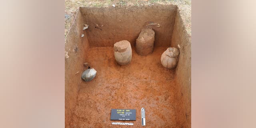
[[[178,55],[179,50],[177,48],[167,48],[161,56],[161,64],[168,69],[176,68]]]

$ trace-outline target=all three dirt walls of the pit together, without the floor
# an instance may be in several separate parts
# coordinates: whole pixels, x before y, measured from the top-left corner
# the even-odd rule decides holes
[[[65,58],[66,128],[69,126],[72,110],[77,103],[77,93],[82,83],[80,75],[84,70],[82,64],[88,58],[86,53],[89,47],[112,47],[115,42],[128,40],[134,48],[141,29],[150,22],[157,24],[148,26],[155,31],[154,46],[176,48],[180,46],[179,62],[175,69],[178,88],[175,92],[174,105],[176,126],[191,128],[191,36],[184,28],[177,7],[159,4],[139,7],[80,8],[66,37],[65,50],[68,52],[68,57]],[[84,24],[89,25],[85,31],[82,30]],[[81,34],[84,34],[84,37],[81,37]]]

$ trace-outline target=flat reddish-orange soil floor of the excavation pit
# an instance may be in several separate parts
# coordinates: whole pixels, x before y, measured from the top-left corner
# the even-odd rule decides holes
[[[141,108],[146,110],[147,128],[176,128],[174,70],[161,65],[167,47],[154,48],[148,56],[139,56],[132,48],[132,61],[117,64],[113,47],[92,47],[86,55],[97,71],[90,82],[80,85],[71,128],[142,128]],[[110,120],[111,109],[136,109],[136,121]],[[134,126],[112,125],[132,122]]]

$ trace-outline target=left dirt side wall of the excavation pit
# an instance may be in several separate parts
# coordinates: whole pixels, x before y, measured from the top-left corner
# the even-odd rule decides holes
[[[76,104],[77,92],[82,82],[81,71],[89,49],[86,31],[83,31],[84,21],[80,11],[66,37],[65,52],[65,127],[70,122],[72,110]],[[84,37],[81,37],[84,34]]]

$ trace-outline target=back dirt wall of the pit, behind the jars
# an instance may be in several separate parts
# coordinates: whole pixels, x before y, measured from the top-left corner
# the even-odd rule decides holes
[[[141,29],[155,31],[154,46],[170,46],[177,7],[174,5],[82,7],[90,46],[114,46],[120,40],[128,40],[135,46]]]

